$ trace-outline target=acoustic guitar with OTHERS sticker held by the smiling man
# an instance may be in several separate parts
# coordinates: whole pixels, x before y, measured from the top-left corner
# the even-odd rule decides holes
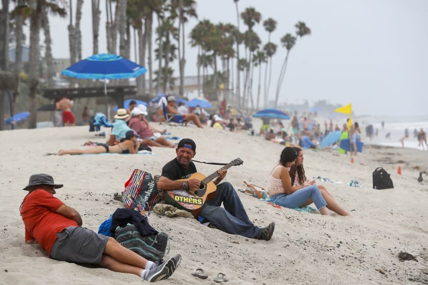
[[[228,169],[231,166],[238,166],[243,163],[244,161],[242,161],[240,158],[236,158],[223,166],[221,169]],[[200,173],[194,173],[187,179],[179,179],[178,181],[198,179],[201,181],[201,185],[199,188],[189,189],[187,191],[183,189],[165,190],[165,201],[178,209],[191,212],[192,215],[196,218],[202,211],[202,207],[204,206],[205,202],[210,200],[215,195],[217,186],[212,182],[212,180],[218,176],[219,173],[216,171],[208,177],[205,177]]]

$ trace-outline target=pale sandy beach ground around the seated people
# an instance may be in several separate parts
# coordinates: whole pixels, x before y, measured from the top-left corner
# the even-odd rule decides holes
[[[162,128],[154,124],[156,128]],[[225,181],[244,188],[243,181],[268,186],[268,175],[283,146],[246,132],[231,133],[194,126],[168,126],[171,135],[193,138],[195,159],[229,162],[241,158]],[[33,173],[48,173],[64,187],[56,196],[81,213],[84,226],[97,231],[120,202],[115,192],[124,189],[132,170],[157,175],[175,157],[168,148],[153,148],[154,155],[44,156],[60,149],[84,149],[85,141],[103,138],[88,127],[45,128],[0,132],[0,284],[141,284],[139,277],[107,269],[84,267],[47,258],[39,245],[26,245],[19,206],[21,190]],[[178,142],[178,141],[177,141]],[[322,216],[291,209],[277,209],[239,192],[250,219],[259,226],[276,222],[270,241],[248,239],[210,229],[190,218],[169,218],[151,213],[149,222],[169,234],[167,255],[181,253],[179,268],[161,284],[215,284],[222,272],[227,284],[416,284],[428,283],[428,152],[414,149],[366,146],[350,162],[336,151],[307,150],[308,178],[324,177],[343,183],[319,182],[353,216]],[[196,163],[198,172],[209,175],[217,166]],[[372,189],[372,172],[384,167],[394,189]],[[397,168],[402,175],[397,175]],[[347,186],[358,179],[362,188]],[[312,205],[313,206],[313,205]],[[408,252],[416,261],[400,262],[398,253]],[[208,278],[191,272],[203,268]],[[383,274],[383,273],[384,274]]]

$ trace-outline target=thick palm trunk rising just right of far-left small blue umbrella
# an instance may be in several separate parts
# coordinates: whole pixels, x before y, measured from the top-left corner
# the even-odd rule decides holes
[[[37,125],[37,91],[39,87],[41,5],[37,0],[31,0],[33,13],[30,18],[30,59],[29,59],[29,87],[30,87],[30,118],[29,128]]]

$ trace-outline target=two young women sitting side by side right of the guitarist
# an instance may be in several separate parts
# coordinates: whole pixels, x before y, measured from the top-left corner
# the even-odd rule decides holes
[[[279,164],[269,176],[269,196],[275,204],[290,209],[314,203],[322,215],[329,215],[327,209],[341,216],[349,215],[326,187],[315,185],[314,180],[306,180],[300,148],[286,147],[282,151]]]

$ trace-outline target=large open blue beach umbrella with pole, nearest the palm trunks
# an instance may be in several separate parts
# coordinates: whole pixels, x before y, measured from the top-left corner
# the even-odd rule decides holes
[[[99,53],[67,67],[61,73],[79,79],[104,79],[105,111],[108,114],[106,79],[138,77],[146,72],[147,70],[141,65],[120,55]]]

